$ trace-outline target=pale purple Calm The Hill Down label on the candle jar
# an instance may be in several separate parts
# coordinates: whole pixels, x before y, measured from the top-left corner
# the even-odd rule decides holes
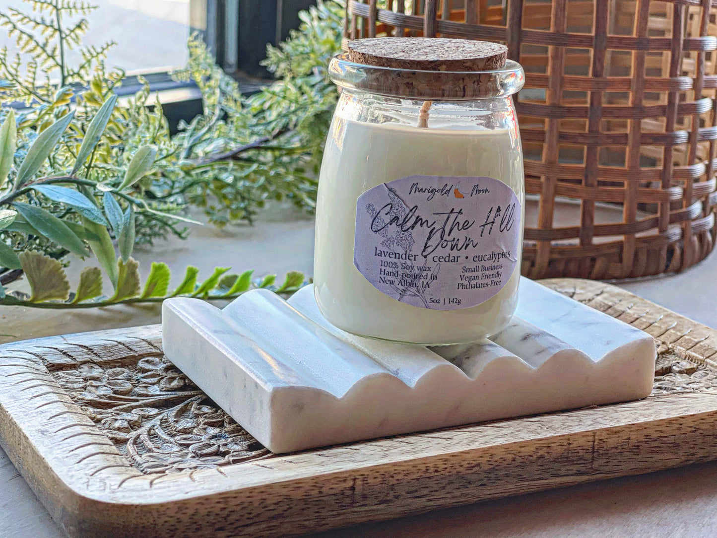
[[[470,308],[508,283],[520,236],[521,203],[502,181],[408,176],[359,197],[353,264],[402,303]]]

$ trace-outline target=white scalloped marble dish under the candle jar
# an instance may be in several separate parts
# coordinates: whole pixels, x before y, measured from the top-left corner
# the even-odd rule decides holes
[[[220,310],[174,298],[163,349],[275,453],[650,394],[652,336],[527,278],[490,340],[427,348],[328,324],[313,286],[245,293]]]

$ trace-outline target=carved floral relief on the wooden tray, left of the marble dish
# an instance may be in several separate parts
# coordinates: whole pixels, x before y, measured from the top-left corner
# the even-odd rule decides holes
[[[143,473],[175,473],[270,456],[161,355],[52,372],[72,400]]]

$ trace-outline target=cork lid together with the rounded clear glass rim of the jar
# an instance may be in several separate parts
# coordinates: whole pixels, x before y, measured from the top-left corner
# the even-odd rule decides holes
[[[423,100],[503,97],[523,87],[503,44],[440,37],[371,37],[346,44],[328,72],[341,88]]]

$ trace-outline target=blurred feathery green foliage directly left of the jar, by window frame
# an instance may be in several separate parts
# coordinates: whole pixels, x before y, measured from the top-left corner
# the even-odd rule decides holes
[[[195,80],[204,113],[183,126],[181,176],[184,192],[223,226],[252,219],[266,200],[288,199],[313,210],[323,141],[337,93],[326,65],[341,50],[343,5],[319,1],[300,14],[300,29],[280,47],[267,47],[265,65],[280,80],[243,98],[236,82],[214,63],[196,37],[189,40],[189,65],[179,80]]]

